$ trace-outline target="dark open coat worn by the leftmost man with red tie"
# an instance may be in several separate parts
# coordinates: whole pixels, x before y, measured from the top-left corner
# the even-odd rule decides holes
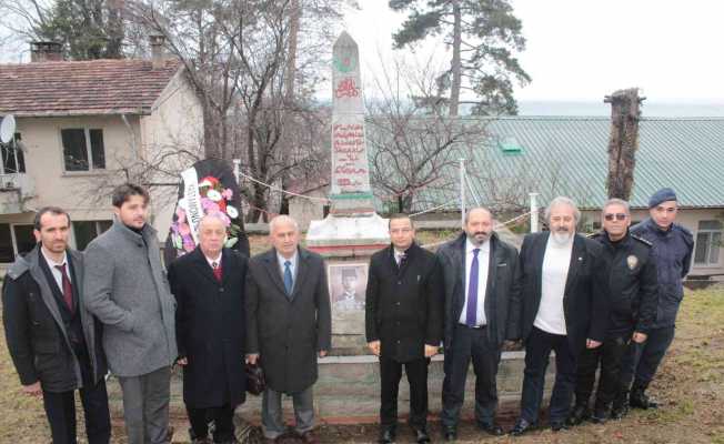
[[[97,384],[108,373],[101,345],[102,326],[83,306],[83,258],[68,250],[73,284],[74,315],[82,332],[84,352],[90,371],[82,372],[70,337],[72,332],[62,292],[50,281],[43,268],[40,246],[24,258],[18,258],[8,270],[2,285],[2,319],[8,350],[16,365],[20,383],[30,385],[40,381],[47,392],[67,392],[83,386],[83,373]],[[52,275],[50,275],[52,279]],[[78,320],[76,316],[80,316]]]

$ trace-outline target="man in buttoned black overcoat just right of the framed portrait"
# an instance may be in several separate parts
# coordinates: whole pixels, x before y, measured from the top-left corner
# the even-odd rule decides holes
[[[442,336],[442,276],[435,255],[414,238],[410,216],[392,215],[392,244],[370,260],[365,325],[368,345],[380,356],[380,443],[384,444],[395,437],[403,365],[410,383],[410,425],[419,443],[430,442],[428,365]]]

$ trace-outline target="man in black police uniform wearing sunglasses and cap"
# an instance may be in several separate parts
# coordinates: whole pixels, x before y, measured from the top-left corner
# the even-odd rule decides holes
[[[631,213],[629,203],[610,199],[603,205],[603,231],[593,236],[603,245],[609,297],[609,329],[603,345],[585,349],[579,357],[575,407],[569,418],[576,425],[589,416],[589,398],[593,392],[595,373],[601,364],[601,376],[592,421],[603,423],[621,417],[624,405],[614,403],[620,392],[621,360],[630,342],[641,344],[656,320],[656,265],[651,243],[629,233]]]

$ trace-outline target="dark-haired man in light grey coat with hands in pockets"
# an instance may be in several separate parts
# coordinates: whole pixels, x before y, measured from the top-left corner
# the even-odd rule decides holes
[[[169,443],[171,365],[177,359],[175,302],[148,223],[149,193],[113,191],[113,226],[86,250],[86,306],[104,325],[103,347],[123,392],[130,444]]]

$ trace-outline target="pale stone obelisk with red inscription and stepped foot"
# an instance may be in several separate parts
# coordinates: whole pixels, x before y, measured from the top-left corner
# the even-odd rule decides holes
[[[358,44],[346,32],[332,57],[332,205],[312,221],[306,245],[328,258],[369,256],[390,242],[388,222],[374,212],[364,134]]]

